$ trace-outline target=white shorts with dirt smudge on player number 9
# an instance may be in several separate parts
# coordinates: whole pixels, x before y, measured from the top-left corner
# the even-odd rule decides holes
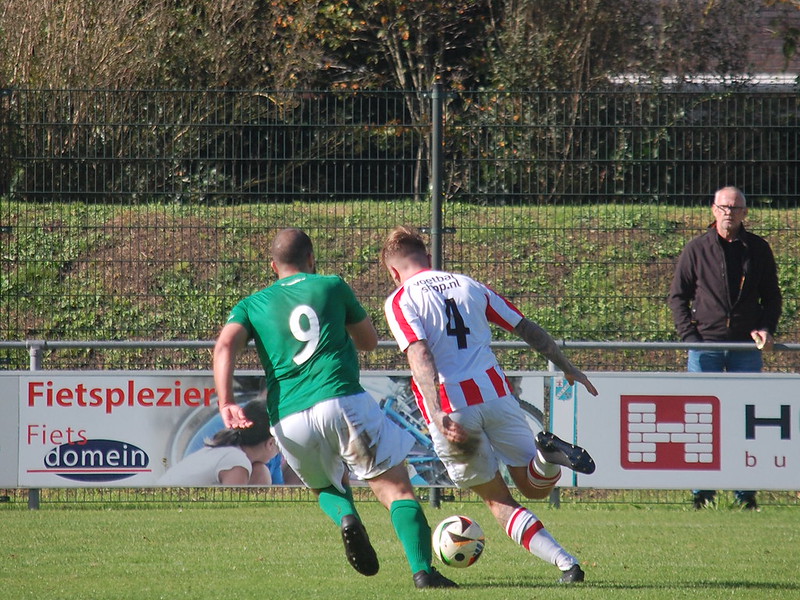
[[[367,392],[325,400],[288,417],[272,433],[286,462],[311,489],[344,491],[345,466],[372,479],[401,464],[414,445]]]

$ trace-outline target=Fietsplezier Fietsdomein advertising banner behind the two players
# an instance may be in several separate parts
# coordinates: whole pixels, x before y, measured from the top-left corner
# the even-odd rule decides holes
[[[540,428],[543,375],[509,373],[531,428]],[[448,485],[404,372],[365,372],[362,384],[417,440],[415,485]],[[237,373],[237,402],[264,397],[259,372]],[[189,372],[0,373],[0,486],[146,487],[222,429],[213,377]]]

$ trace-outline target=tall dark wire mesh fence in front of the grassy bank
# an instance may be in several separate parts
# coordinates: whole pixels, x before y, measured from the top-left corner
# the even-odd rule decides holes
[[[775,251],[778,338],[795,342],[798,124],[792,91],[4,90],[0,338],[211,340],[269,283],[274,232],[300,226],[320,271],[353,285],[388,340],[378,250],[405,223],[556,338],[675,341],[674,262],[730,184]],[[207,348],[46,352],[46,368],[210,362]],[[685,366],[674,349],[570,356],[591,370]],[[513,348],[500,358],[545,366]],[[390,347],[362,360],[404,366]],[[766,368],[799,360],[776,353]],[[0,361],[29,357],[0,348]]]

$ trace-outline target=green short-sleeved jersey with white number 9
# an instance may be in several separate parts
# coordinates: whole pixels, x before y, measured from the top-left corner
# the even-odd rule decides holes
[[[228,323],[255,339],[270,423],[318,402],[363,392],[346,325],[367,316],[341,277],[298,273],[239,302]]]

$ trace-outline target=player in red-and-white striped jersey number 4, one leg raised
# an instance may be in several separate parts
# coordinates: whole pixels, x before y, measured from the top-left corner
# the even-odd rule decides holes
[[[564,372],[570,384],[597,390],[555,340],[488,286],[457,273],[431,269],[419,233],[395,228],[381,261],[397,285],[384,305],[412,389],[439,458],[459,487],[476,492],[509,537],[556,565],[562,583],[583,581],[584,571],[539,518],[514,500],[499,463],[527,498],[546,498],[561,466],[594,472],[591,456],[550,432],[535,437],[490,348],[491,324],[513,331]]]

